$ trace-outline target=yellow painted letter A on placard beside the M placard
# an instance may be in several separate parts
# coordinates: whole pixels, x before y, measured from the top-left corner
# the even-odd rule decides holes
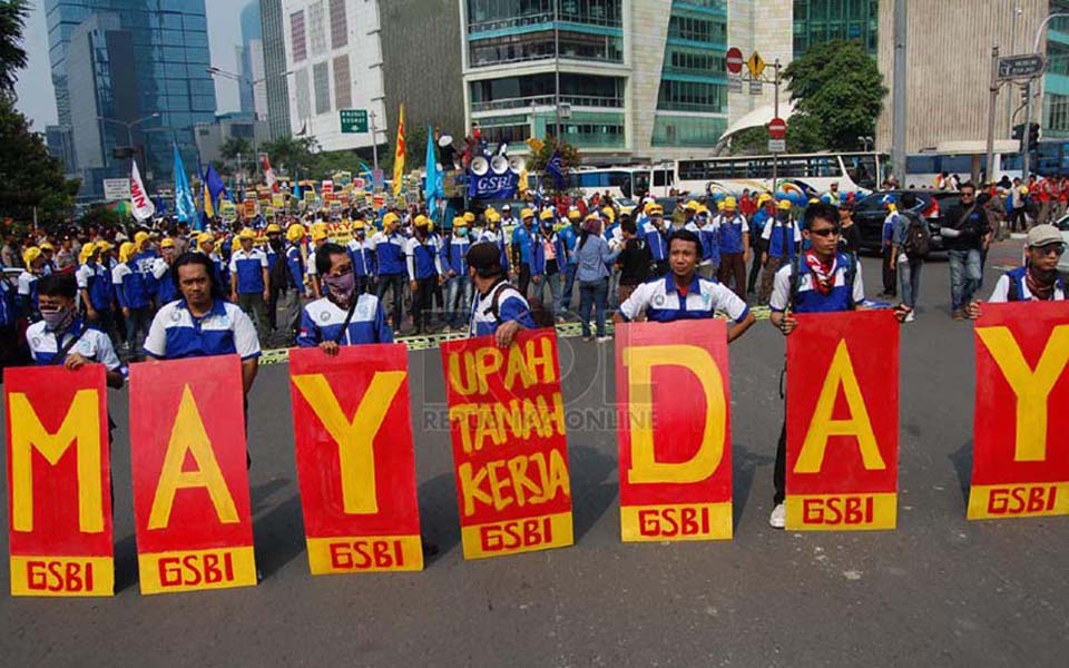
[[[183,471],[186,452],[193,455],[197,464],[195,471]],[[153,499],[153,511],[148,515],[149,529],[165,529],[170,522],[170,510],[175,504],[175,492],[179,489],[205,488],[212,498],[215,513],[219,522],[235,524],[238,522],[237,509],[231,490],[226,487],[219,462],[212,450],[212,441],[204,430],[204,421],[197,402],[193,399],[189,385],[182,390],[182,401],[178,403],[178,415],[175,426],[170,431],[170,441],[167,443],[167,453],[164,455],[164,468],[156,487],[156,497]]]

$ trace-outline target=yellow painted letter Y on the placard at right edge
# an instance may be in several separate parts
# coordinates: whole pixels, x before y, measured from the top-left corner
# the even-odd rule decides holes
[[[1017,395],[1016,462],[1047,459],[1047,400],[1069,361],[1069,325],[1050,333],[1036,371],[1028,366],[1009,327],[978,327],[977,336],[991,352],[994,363]]]

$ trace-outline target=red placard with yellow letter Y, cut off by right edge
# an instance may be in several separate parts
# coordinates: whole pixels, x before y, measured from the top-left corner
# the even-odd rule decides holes
[[[975,337],[969,519],[1069,514],[1069,303],[984,304]]]

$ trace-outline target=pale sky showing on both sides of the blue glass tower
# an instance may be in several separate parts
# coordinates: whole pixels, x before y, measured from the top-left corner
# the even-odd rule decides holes
[[[255,0],[252,0],[255,1]],[[212,65],[227,71],[237,71],[234,47],[241,43],[241,10],[246,0],[206,0],[208,11],[208,48]],[[29,66],[19,75],[16,92],[18,108],[33,121],[33,130],[45,131],[45,126],[56,124],[56,95],[52,90],[51,68],[48,61],[48,27],[45,22],[43,0],[32,0],[32,10],[26,24],[23,47],[29,55]],[[215,95],[218,112],[236,111],[237,82],[216,77]]]

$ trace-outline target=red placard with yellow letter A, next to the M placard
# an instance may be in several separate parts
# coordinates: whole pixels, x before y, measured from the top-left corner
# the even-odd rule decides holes
[[[237,355],[130,366],[141,593],[256,584]]]

